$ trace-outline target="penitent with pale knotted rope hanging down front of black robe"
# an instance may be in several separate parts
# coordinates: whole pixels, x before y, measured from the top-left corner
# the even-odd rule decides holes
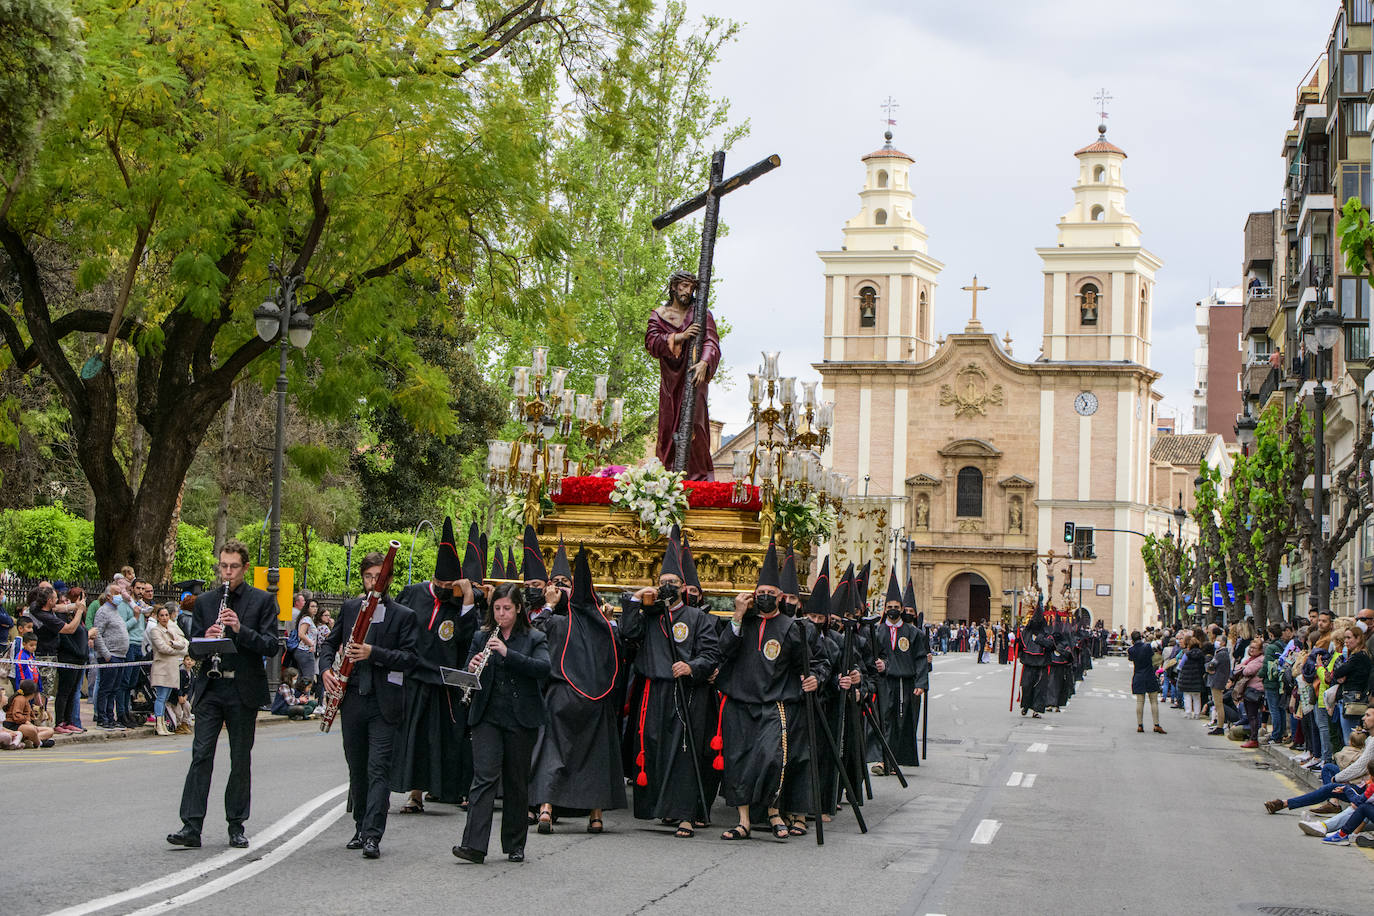
[[[750,615],[736,634],[720,634],[724,772],[720,794],[727,805],[747,805],[752,820],[776,808],[783,791],[790,736],[798,714],[802,677],[802,632],[783,614]]]

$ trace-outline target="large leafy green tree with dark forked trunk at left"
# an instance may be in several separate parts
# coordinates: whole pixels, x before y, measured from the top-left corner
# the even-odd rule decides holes
[[[350,416],[363,398],[456,430],[411,331],[464,297],[492,314],[544,308],[533,272],[567,239],[532,124],[559,91],[585,99],[583,77],[617,66],[607,49],[650,8],[85,0],[85,76],[0,218],[0,335],[71,415],[103,573],[165,573],[209,424],[236,380],[275,375],[251,320],[273,261],[304,276],[316,321],[291,360],[308,409]],[[136,479],[122,417],[146,433]]]

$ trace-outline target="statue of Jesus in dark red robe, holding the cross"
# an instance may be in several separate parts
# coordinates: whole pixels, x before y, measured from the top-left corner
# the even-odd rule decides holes
[[[692,341],[701,330],[692,321],[692,298],[697,293],[697,275],[677,271],[668,277],[668,301],[649,314],[644,330],[644,349],[658,360],[658,442],[654,455],[672,468],[675,455],[673,435],[683,409],[683,380],[687,372],[695,375],[697,408],[692,413],[691,450],[687,455],[688,481],[714,481],[710,461],[710,420],[706,419],[706,389],[720,365],[720,336],[716,335],[716,319],[706,312],[706,336],[699,358],[687,365],[691,358]]]

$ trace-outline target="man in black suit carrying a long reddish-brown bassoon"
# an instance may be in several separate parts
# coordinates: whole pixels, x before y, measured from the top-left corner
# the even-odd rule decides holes
[[[381,553],[368,553],[359,564],[363,588],[376,585]],[[339,652],[353,661],[353,674],[339,700],[344,722],[344,758],[348,761],[353,839],[345,849],[361,849],[365,858],[382,854],[386,809],[392,802],[392,746],[405,705],[405,676],[415,667],[415,611],[382,596],[372,612],[363,643],[344,645],[367,599],[352,597],[339,608],[339,619],[320,647],[324,689],[335,685],[334,659]]]

